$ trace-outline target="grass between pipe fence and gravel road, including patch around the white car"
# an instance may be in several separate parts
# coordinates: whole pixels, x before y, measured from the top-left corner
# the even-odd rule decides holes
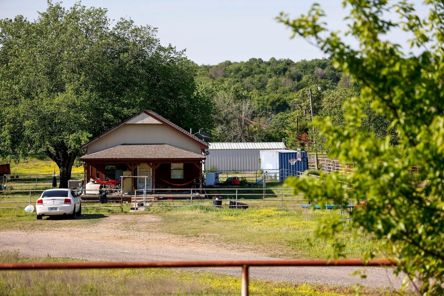
[[[75,222],[61,220],[57,225],[51,227],[66,227],[73,223],[80,227],[88,227],[92,223],[101,221],[100,218],[89,219],[88,216],[106,217],[119,214],[115,212],[120,211],[120,207],[86,208],[84,205],[88,204],[83,204],[82,212],[85,216],[78,217]],[[124,204],[120,214],[134,215],[134,213],[127,213],[130,206],[130,204]],[[266,251],[274,257],[325,259],[333,252],[329,243],[324,240],[313,240],[309,243],[307,240],[313,238],[313,231],[321,219],[340,215],[340,210],[315,210],[312,212],[309,209],[285,207],[243,210],[193,205],[181,208],[148,207],[147,212],[140,212],[137,215],[146,213],[162,217],[159,227],[165,233],[188,237],[214,234],[218,241],[245,245],[258,252]],[[36,227],[41,229],[42,227],[41,223],[36,221],[35,213],[26,213],[23,209],[0,209],[0,225],[2,225],[2,229],[21,230],[32,230]],[[125,225],[128,229],[133,229],[136,226],[131,223]],[[139,231],[149,232],[151,230],[141,229]],[[348,235],[343,233],[338,238],[346,242]],[[363,251],[376,250],[377,245],[378,241],[372,237],[360,236],[352,243],[347,244],[345,253],[349,259],[361,258]]]

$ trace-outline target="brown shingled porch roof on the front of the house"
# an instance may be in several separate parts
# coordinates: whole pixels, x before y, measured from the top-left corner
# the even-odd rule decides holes
[[[80,158],[80,160],[111,159],[204,160],[206,156],[168,144],[122,144]]]

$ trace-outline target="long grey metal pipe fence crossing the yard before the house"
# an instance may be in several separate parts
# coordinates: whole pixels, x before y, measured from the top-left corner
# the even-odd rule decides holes
[[[111,208],[122,207],[123,203],[134,203],[135,209],[140,206],[143,209],[150,207],[183,207],[183,206],[208,206],[208,207],[230,207],[242,208],[239,202],[248,202],[249,207],[298,207],[305,204],[313,204],[313,201],[305,198],[303,194],[293,194],[292,189],[272,188],[266,189],[264,196],[262,188],[231,189],[215,188],[187,189],[186,192],[175,192],[170,194],[171,189],[155,189],[158,193],[150,193],[149,190],[136,190],[133,195],[111,195],[108,203],[100,204],[98,195],[81,195],[83,208]],[[23,209],[25,205],[35,204],[44,190],[7,190],[0,193],[0,209]],[[85,189],[78,190],[85,191]],[[199,192],[202,193],[199,193]],[[141,192],[140,195],[137,192]],[[161,192],[161,193],[160,193]],[[95,198],[96,197],[96,198]],[[94,198],[94,199],[91,199]],[[217,198],[217,199],[216,199]],[[126,201],[124,201],[126,199]],[[216,204],[214,201],[217,201]],[[230,205],[229,202],[234,204]],[[331,200],[333,201],[333,200]],[[142,205],[138,206],[139,203]],[[219,204],[220,203],[220,204]]]

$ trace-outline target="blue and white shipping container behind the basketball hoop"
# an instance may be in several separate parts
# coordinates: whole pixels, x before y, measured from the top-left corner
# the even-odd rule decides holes
[[[261,169],[268,178],[285,181],[289,176],[299,176],[308,169],[307,152],[296,150],[261,150]],[[297,159],[292,165],[289,160]]]

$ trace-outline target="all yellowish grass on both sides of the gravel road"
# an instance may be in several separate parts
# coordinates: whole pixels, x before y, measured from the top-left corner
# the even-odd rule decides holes
[[[103,223],[110,215],[146,215],[162,217],[157,225],[164,233],[184,237],[207,236],[217,241],[246,245],[258,252],[274,257],[325,259],[331,253],[325,241],[307,243],[313,229],[321,219],[339,215],[337,210],[291,208],[228,209],[192,206],[184,208],[150,208],[147,212],[126,213],[130,205],[120,208],[83,208],[81,217],[75,220],[37,221],[35,213],[23,209],[1,209],[0,225],[3,230],[53,230],[70,226],[90,228]],[[55,223],[56,222],[56,223]],[[183,225],[187,225],[183,227]],[[135,229],[135,223],[120,225]],[[138,229],[138,234],[151,229]],[[346,239],[345,235],[342,237]],[[370,237],[358,237],[347,249],[349,258],[358,258],[362,250],[373,249],[377,241]],[[18,253],[1,253],[0,262],[64,262],[69,258],[29,258]],[[209,272],[189,272],[177,269],[107,269],[71,271],[10,271],[0,272],[0,295],[239,295],[240,276],[219,275]],[[382,296],[376,289],[364,289],[363,295]],[[250,281],[250,295],[342,296],[353,295],[352,288],[329,285],[307,285],[262,280]]]

